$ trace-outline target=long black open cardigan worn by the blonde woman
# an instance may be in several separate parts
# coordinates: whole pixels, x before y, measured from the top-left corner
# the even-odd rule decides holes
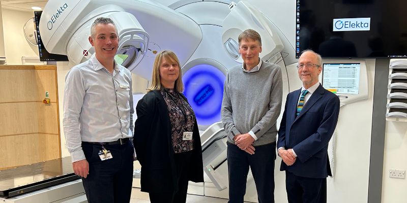
[[[185,98],[183,94],[181,96]],[[171,141],[168,108],[159,90],[148,92],[137,103],[133,144],[141,164],[141,191],[176,192],[176,167]],[[202,147],[194,123],[193,152],[188,180],[203,182]]]

